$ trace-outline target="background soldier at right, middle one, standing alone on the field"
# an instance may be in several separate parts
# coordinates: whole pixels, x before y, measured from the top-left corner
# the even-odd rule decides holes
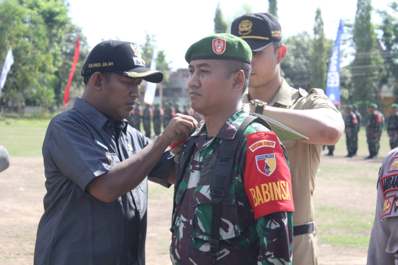
[[[369,156],[366,159],[377,158],[383,125],[384,116],[377,110],[377,105],[371,103],[369,105],[368,122],[366,124],[366,139],[369,148]]]

